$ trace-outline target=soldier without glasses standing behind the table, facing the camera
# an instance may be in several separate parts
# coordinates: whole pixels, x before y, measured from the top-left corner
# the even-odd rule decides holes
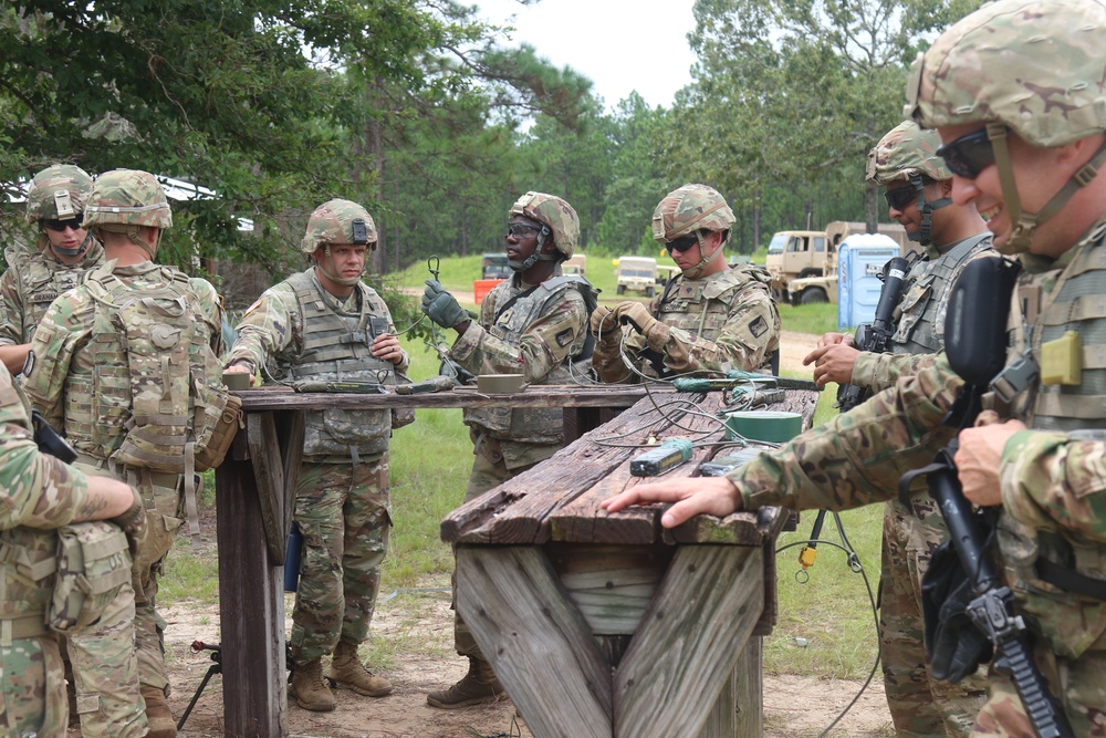
[[[395,384],[409,360],[392,314],[361,281],[376,225],[356,202],[330,200],[307,221],[301,250],[311,267],[272,287],[238,325],[228,372],[298,381]],[[270,362],[272,360],[272,362]],[[267,366],[269,365],[269,366]],[[300,707],[335,707],[330,676],[359,695],[392,684],[357,657],[368,637],[380,563],[388,548],[388,410],[311,410],[306,417],[295,522],[303,533],[292,612],[292,696]]]

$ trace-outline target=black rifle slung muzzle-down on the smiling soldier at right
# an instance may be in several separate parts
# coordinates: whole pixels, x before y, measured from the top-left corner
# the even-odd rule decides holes
[[[1018,267],[1003,259],[977,259],[953,287],[945,346],[949,364],[967,384],[945,418],[949,427],[962,429],[974,423],[981,396],[1004,367],[1005,315],[1016,276]],[[1033,662],[1025,622],[1013,612],[1013,593],[1002,584],[999,569],[988,555],[989,532],[963,496],[952,460],[956,450],[953,439],[933,464],[904,477],[899,490],[906,495],[914,477],[928,475],[929,493],[941,509],[975,595],[968,615],[994,647],[992,668],[1010,674],[1040,738],[1073,736],[1063,706],[1048,692],[1048,683]]]

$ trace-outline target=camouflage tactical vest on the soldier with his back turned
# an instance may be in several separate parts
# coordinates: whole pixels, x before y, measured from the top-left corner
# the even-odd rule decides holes
[[[82,412],[88,398],[66,393],[65,430],[71,441],[90,437],[93,455],[113,464],[202,471],[229,393],[189,278],[170,267],[157,271],[161,283],[140,289],[106,268],[88,272],[96,302],[91,403]]]

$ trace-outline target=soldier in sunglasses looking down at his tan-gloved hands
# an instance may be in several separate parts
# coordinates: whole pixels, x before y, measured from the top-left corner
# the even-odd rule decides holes
[[[726,263],[733,220],[726,199],[706,185],[685,185],[660,201],[653,214],[653,237],[671,253],[680,274],[648,309],[629,300],[592,314],[597,341],[592,365],[601,380],[635,383],[643,374],[774,372],[780,311],[766,273]],[[634,358],[637,372],[626,367],[623,353]]]

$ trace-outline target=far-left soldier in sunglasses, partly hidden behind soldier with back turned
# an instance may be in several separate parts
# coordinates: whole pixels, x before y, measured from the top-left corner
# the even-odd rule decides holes
[[[27,189],[27,222],[39,226],[34,249],[4,249],[0,276],[0,362],[12,374],[23,368],[31,336],[46,308],[81,276],[104,261],[104,247],[81,227],[92,177],[67,164],[46,167]]]

